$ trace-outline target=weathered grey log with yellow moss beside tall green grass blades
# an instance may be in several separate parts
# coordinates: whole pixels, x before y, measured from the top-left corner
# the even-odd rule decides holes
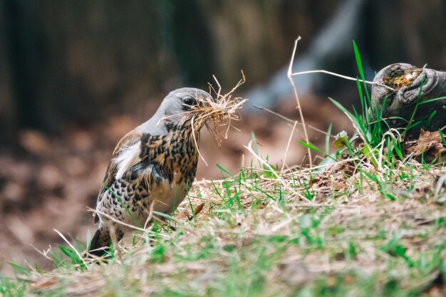
[[[446,72],[396,63],[381,69],[373,81],[382,85],[372,87],[372,108],[382,110],[390,127],[419,123],[408,133],[419,135],[421,128],[433,131],[446,126]]]

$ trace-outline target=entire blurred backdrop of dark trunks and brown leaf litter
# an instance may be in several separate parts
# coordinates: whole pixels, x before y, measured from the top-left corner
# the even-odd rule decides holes
[[[144,122],[175,88],[223,93],[243,70],[235,95],[248,98],[241,131],[218,148],[203,132],[207,163],[198,179],[237,172],[251,156],[254,131],[271,163],[301,164],[296,100],[286,78],[294,40],[294,71],[324,69],[355,77],[352,40],[367,79],[391,63],[446,69],[444,0],[171,0],[0,1],[0,269],[5,261],[51,266],[37,249],[55,248],[53,231],[84,240],[110,155],[126,132]],[[351,130],[328,103],[358,104],[356,83],[323,74],[295,78],[306,122]],[[311,141],[325,136],[311,130]],[[245,155],[243,157],[243,155]],[[3,266],[3,267],[2,267]]]

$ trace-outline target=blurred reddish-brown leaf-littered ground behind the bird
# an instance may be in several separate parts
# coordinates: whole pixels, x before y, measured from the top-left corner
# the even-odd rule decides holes
[[[296,120],[296,102],[292,98],[286,102],[276,111]],[[305,98],[305,102],[307,125],[326,130],[333,123],[332,134],[351,130],[346,117],[331,103],[320,98]],[[87,230],[93,234],[95,226],[88,207],[95,207],[113,147],[136,125],[139,123],[131,116],[115,116],[88,130],[68,129],[59,137],[24,130],[17,135],[19,147],[0,147],[1,271],[11,273],[6,261],[30,265],[37,262],[43,269],[51,268],[50,261],[34,247],[47,250],[62,244],[53,229],[81,241],[85,241]],[[241,131],[230,131],[222,147],[203,131],[200,150],[208,166],[200,161],[197,179],[220,179],[222,174],[216,164],[234,173],[240,166],[249,166],[251,155],[243,146],[251,140],[251,131],[262,157],[268,155],[271,164],[281,167],[289,142],[286,165],[301,164],[305,150],[296,141],[304,140],[302,129],[297,125],[289,141],[292,126],[259,110],[254,115],[242,115],[242,123],[237,123]],[[325,135],[311,129],[308,132],[311,141],[323,147]]]

